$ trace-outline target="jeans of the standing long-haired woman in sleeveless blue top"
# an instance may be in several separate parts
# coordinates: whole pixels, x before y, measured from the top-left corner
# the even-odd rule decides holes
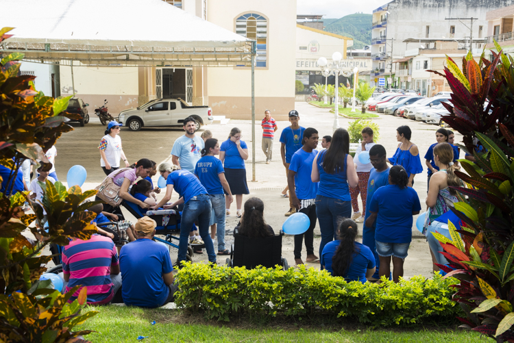
[[[325,245],[336,239],[339,220],[352,216],[352,205],[350,201],[318,195],[316,196],[316,214],[321,231],[321,243],[319,244],[319,256],[321,256]]]

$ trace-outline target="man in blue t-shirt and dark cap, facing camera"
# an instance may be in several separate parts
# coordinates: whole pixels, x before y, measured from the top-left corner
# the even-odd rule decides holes
[[[291,126],[286,127],[282,130],[282,134],[280,134],[280,155],[282,155],[282,163],[284,167],[286,167],[286,177],[289,173],[289,164],[291,163],[291,157],[293,157],[293,153],[298,151],[302,147],[302,137],[304,135],[304,127],[298,125],[299,114],[296,110],[292,110],[289,112],[289,123]],[[287,198],[287,191],[289,190],[289,186],[286,186],[284,190],[282,190],[282,196]],[[291,214],[295,213],[296,209],[291,203],[291,199],[289,199],[289,211],[286,213],[286,217],[291,216]]]

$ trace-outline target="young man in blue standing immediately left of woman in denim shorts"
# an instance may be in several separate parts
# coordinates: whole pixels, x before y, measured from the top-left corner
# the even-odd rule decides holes
[[[387,166],[386,155],[387,153],[384,147],[382,147],[380,144],[375,144],[369,150],[369,160],[374,168],[371,169],[369,180],[367,181],[366,213],[364,216],[364,223],[366,223],[366,219],[370,215],[369,205],[371,203],[371,199],[373,198],[373,194],[375,194],[378,188],[389,185],[389,166]],[[376,253],[375,227],[376,222],[373,223],[372,227],[367,227],[366,225],[363,226],[363,244],[367,246],[369,250],[371,250],[375,257],[376,270],[373,277],[378,279],[378,267],[380,266],[380,259]]]

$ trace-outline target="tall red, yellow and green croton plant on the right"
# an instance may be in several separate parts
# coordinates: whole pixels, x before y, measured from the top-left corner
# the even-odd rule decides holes
[[[458,318],[461,327],[514,342],[514,62],[496,50],[478,62],[468,53],[462,68],[448,57],[438,73],[453,92],[443,120],[463,135],[460,147],[474,159],[459,160],[466,173],[456,172],[467,186],[454,187],[460,201],[452,211],[461,225],[448,223],[452,239],[436,237],[450,262],[439,267],[461,281],[454,286],[467,314]]]

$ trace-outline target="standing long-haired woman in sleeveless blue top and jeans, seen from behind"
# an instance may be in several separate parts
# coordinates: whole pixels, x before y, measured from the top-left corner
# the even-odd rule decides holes
[[[321,231],[319,255],[323,247],[336,237],[340,218],[350,218],[352,205],[350,186],[356,188],[358,176],[350,151],[350,135],[345,129],[336,129],[330,149],[322,150],[313,162],[311,179],[319,182],[316,196],[316,215]]]

